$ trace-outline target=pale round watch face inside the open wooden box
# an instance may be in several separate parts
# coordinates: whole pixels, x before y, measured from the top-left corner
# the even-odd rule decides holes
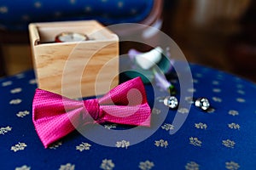
[[[63,32],[55,38],[55,42],[80,42],[86,40],[88,40],[86,35],[75,32]]]

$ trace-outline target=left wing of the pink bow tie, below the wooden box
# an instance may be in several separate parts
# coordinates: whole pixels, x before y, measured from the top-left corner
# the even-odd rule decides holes
[[[65,105],[65,106],[64,106]],[[32,121],[44,147],[66,136],[79,126],[83,101],[37,89],[32,106]]]

